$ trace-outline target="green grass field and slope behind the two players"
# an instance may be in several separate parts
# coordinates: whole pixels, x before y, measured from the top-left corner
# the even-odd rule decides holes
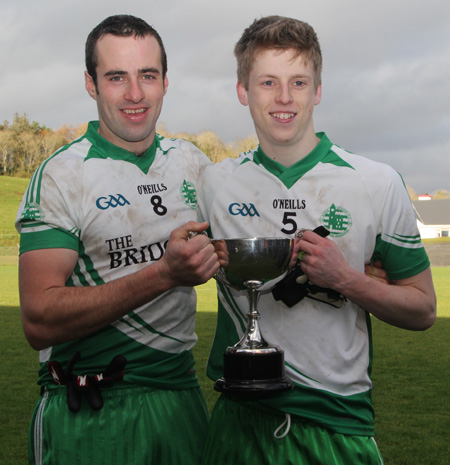
[[[29,348],[21,328],[17,237],[12,223],[28,181],[2,178],[0,176],[0,464],[25,465],[28,425],[39,393],[36,385],[38,355]],[[6,182],[9,185],[5,191]],[[438,318],[428,331],[404,331],[373,319],[376,438],[386,465],[450,464],[447,394],[450,384],[450,267],[433,268],[433,278],[438,295]],[[197,291],[199,342],[195,357],[211,408],[217,393],[212,381],[205,376],[205,365],[216,324],[214,281],[199,286]]]

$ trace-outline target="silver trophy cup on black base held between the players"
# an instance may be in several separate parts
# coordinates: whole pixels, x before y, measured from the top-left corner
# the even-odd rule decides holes
[[[260,288],[269,291],[289,269],[293,239],[213,239],[221,260],[216,279],[237,290],[246,290],[249,313],[245,334],[224,353],[224,372],[214,385],[220,392],[270,394],[289,391],[292,381],[284,374],[284,351],[263,338],[257,309]],[[273,281],[273,284],[271,284]]]

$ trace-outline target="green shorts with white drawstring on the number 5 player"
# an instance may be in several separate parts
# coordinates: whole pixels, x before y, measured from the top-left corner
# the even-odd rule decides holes
[[[382,465],[372,437],[318,425],[222,395],[214,406],[202,465]]]

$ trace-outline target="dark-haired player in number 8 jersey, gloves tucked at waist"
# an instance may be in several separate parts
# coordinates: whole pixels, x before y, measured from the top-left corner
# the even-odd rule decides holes
[[[210,161],[156,134],[167,60],[147,23],[107,18],[86,66],[99,121],[37,169],[16,221],[23,327],[41,362],[29,463],[197,465],[208,414],[192,286],[218,259],[192,232],[208,227],[196,183]]]

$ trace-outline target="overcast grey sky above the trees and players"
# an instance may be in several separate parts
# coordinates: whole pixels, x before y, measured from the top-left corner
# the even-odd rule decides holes
[[[168,54],[170,132],[254,134],[236,98],[233,47],[255,18],[310,23],[324,58],[315,128],[388,163],[418,194],[450,190],[450,6],[445,0],[0,0],[0,121],[58,129],[96,119],[84,44],[112,14],[140,16]]]

